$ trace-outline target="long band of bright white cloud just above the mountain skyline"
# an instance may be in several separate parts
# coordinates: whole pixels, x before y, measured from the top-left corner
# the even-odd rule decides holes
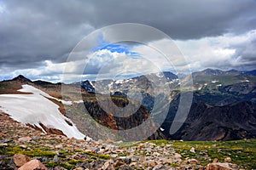
[[[78,54],[77,60],[63,63],[45,60],[44,65],[37,69],[20,69],[10,71],[11,74],[7,73],[8,68],[1,68],[0,75],[4,78],[22,74],[33,80],[79,82],[81,78],[116,79],[166,70],[188,73],[189,68],[192,71],[209,67],[224,70],[233,68],[252,70],[256,65],[254,45],[256,45],[256,31],[248,31],[238,36],[225,34],[218,37],[175,41],[175,43],[161,39],[131,47],[130,50],[138,54],[135,56],[101,49],[87,57],[84,57],[84,53]]]

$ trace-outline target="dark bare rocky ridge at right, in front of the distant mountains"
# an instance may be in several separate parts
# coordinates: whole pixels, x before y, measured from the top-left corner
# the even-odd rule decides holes
[[[168,129],[168,125],[165,124]],[[171,139],[235,140],[256,137],[256,107],[239,102],[222,107],[194,103],[187,120]],[[170,128],[170,127],[169,127]]]

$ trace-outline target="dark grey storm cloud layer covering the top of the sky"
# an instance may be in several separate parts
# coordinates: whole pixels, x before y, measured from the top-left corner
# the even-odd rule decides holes
[[[123,22],[154,26],[181,40],[241,34],[256,28],[255,9],[253,0],[0,0],[0,67],[63,62],[90,31]]]

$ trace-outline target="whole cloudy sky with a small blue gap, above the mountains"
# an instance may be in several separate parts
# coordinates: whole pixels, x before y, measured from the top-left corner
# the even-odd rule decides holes
[[[150,33],[131,35],[143,44],[108,43],[108,37],[129,33],[125,31],[99,34],[96,46],[84,53],[84,61],[70,60],[84,37],[121,23],[164,32],[186,62],[176,58],[172,65],[165,62],[150,47],[168,50],[170,42]],[[255,0],[0,0],[0,81],[22,74],[32,80],[62,82],[63,71],[69,75],[67,82],[99,74],[109,78],[207,68],[250,71],[256,65],[255,47]]]

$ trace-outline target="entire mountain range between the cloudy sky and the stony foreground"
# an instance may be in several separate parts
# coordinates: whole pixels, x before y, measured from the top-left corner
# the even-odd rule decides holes
[[[154,128],[157,127],[157,121],[150,122],[150,127],[155,130],[155,133],[150,135],[148,139],[251,139],[256,138],[255,73],[256,71],[220,71],[212,69],[192,73],[192,105],[183,126],[174,134],[170,134],[169,130],[179,106],[180,83],[186,77],[178,77],[169,71],[125,80],[92,82],[84,80],[71,84],[32,82],[26,77],[19,76],[12,80],[0,82],[0,95],[29,95],[30,92],[17,91],[25,84],[37,88],[52,97],[52,99],[49,99],[50,102],[58,105],[61,114],[67,117],[66,123],[69,124],[68,126],[75,125],[79,132],[93,139],[116,139],[112,130],[131,129],[139,126],[148,120],[148,117],[152,114],[155,100],[168,95],[169,105],[160,105],[163,109],[169,107],[166,118],[156,130]],[[165,91],[157,83],[157,85],[152,83],[163,81],[170,87],[171,91]],[[67,95],[61,93],[63,87],[68,89]],[[134,87],[138,90],[131,90]],[[102,99],[108,99],[108,94],[114,105],[119,108],[125,108],[125,105],[128,104],[139,105],[139,107],[131,116],[114,116],[114,107],[105,111],[97,101],[99,96]],[[141,94],[141,100],[137,99],[137,94]],[[1,103],[0,106],[2,106]],[[0,107],[1,109],[3,110],[3,106]],[[38,109],[40,110],[40,108]],[[20,111],[22,111],[22,108],[20,108]],[[128,114],[128,112],[129,110],[124,114]],[[160,115],[154,115],[154,117],[157,116]],[[52,127],[50,123],[41,127],[36,123],[30,123],[30,125],[35,128],[39,127],[43,131],[45,131],[44,126]],[[99,128],[101,128],[101,133],[96,133],[95,129]],[[63,133],[63,130],[61,132]],[[130,138],[136,140],[137,134],[131,135]]]

